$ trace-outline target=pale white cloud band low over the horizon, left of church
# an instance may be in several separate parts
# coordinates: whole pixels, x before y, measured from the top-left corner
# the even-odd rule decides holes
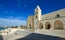
[[[16,26],[16,25],[26,25],[25,20],[19,20],[19,19],[6,19],[6,18],[0,18],[0,26]]]

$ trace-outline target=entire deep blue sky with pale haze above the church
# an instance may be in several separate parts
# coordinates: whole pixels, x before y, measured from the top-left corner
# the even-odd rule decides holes
[[[0,0],[0,26],[25,25],[37,5],[47,14],[65,8],[65,0]]]

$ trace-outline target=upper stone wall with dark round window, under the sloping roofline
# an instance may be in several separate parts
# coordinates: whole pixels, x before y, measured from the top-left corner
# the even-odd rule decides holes
[[[57,11],[42,15],[42,19],[44,20],[44,19],[63,17],[63,16],[65,16],[65,9],[57,10]]]

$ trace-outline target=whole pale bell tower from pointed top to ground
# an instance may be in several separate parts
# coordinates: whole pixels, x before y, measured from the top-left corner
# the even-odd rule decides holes
[[[41,9],[39,6],[36,7],[34,12],[34,28],[38,29],[38,22],[41,20]]]

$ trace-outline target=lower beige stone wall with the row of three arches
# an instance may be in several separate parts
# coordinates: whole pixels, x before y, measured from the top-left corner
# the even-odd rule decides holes
[[[56,21],[58,21],[57,25],[55,25]],[[39,21],[39,23],[43,24],[43,29],[46,29],[46,26],[49,24],[50,25],[50,28],[48,28],[49,30],[55,30],[55,27],[56,28],[58,27],[58,29],[64,29],[65,30],[65,17],[42,20],[42,21]],[[40,26],[39,23],[38,23],[38,28]]]

